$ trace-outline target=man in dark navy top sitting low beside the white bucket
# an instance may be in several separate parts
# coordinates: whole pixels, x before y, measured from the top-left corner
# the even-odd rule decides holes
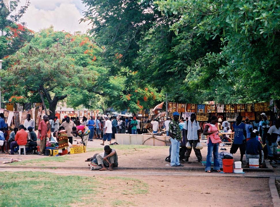
[[[249,159],[250,158],[255,158],[259,159],[260,165],[264,161],[264,153],[262,152],[262,145],[261,143],[256,140],[256,134],[254,132],[251,132],[249,140],[246,142],[246,166],[249,167]]]

